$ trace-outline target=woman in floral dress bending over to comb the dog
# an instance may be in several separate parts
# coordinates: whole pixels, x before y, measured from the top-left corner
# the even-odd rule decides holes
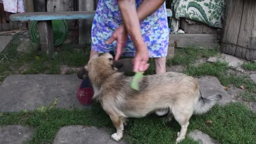
[[[148,59],[154,58],[155,73],[163,73],[168,34],[165,0],[99,0],[91,30],[90,59],[98,52],[115,51],[115,60],[121,55],[132,56],[133,72],[144,72]],[[84,83],[81,88],[92,91],[89,80]],[[85,99],[92,94],[78,99],[87,104]]]

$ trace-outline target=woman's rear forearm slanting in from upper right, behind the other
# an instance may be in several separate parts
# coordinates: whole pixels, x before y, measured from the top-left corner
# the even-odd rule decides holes
[[[144,0],[137,9],[139,21],[154,13],[164,2],[165,0]]]

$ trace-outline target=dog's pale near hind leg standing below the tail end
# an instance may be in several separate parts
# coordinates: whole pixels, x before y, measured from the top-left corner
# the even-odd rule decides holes
[[[178,138],[176,139],[176,143],[185,139],[185,135],[187,133],[187,127],[189,125],[189,118],[192,115],[192,111],[187,108],[173,108],[172,109],[173,116],[175,120],[181,125],[181,131],[178,132]]]

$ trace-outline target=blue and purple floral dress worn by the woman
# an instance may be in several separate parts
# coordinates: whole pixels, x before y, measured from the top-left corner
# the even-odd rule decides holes
[[[136,0],[136,8],[143,0]],[[109,52],[117,48],[117,43],[107,45],[117,27],[123,23],[117,0],[99,0],[91,30],[91,48],[96,52]],[[150,16],[140,21],[141,35],[148,47],[149,57],[165,57],[168,51],[168,21],[165,3]],[[134,44],[128,36],[122,56],[135,56]]]

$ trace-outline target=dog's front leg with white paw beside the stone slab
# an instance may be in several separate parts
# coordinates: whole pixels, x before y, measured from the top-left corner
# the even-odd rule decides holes
[[[123,118],[117,115],[109,115],[113,125],[117,129],[117,132],[111,135],[111,138],[115,141],[119,141],[123,137]]]

